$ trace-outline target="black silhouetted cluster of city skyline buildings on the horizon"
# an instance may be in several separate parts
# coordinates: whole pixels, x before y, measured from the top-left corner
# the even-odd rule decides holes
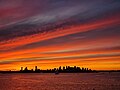
[[[55,72],[59,72],[59,73],[79,73],[79,72],[91,72],[91,69],[88,68],[80,68],[77,66],[71,67],[71,66],[63,66],[63,67],[59,67],[59,68],[53,68],[53,69],[46,69],[46,70],[41,70],[38,69],[37,66],[35,66],[35,69],[31,69],[29,70],[27,67],[25,67],[23,69],[23,67],[21,67],[20,72],[23,73],[28,73],[28,72],[37,72],[37,73],[55,73]]]

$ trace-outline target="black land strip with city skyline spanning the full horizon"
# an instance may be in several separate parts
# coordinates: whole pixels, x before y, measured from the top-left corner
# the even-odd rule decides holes
[[[120,72],[120,70],[91,70],[89,68],[78,67],[78,66],[63,66],[53,69],[42,70],[35,66],[35,69],[29,70],[28,67],[21,67],[19,71],[0,71],[0,73],[92,73],[92,72]]]

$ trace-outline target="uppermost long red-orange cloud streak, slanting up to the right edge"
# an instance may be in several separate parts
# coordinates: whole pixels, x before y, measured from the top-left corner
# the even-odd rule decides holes
[[[35,43],[35,42],[39,42],[39,41],[43,41],[51,38],[56,38],[56,37],[60,37],[68,34],[106,28],[108,26],[111,26],[111,25],[114,26],[116,24],[120,24],[119,16],[109,17],[107,19],[85,23],[82,25],[71,26],[69,28],[56,30],[54,32],[48,32],[48,33],[45,32],[45,33],[38,33],[30,36],[18,37],[5,42],[0,42],[0,48],[3,50],[14,48],[14,47]]]

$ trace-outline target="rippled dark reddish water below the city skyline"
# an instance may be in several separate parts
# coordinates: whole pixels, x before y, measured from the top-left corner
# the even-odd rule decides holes
[[[0,74],[0,90],[120,90],[120,73]]]

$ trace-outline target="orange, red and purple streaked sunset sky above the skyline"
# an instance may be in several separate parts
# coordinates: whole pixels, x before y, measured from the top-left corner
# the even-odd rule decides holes
[[[120,70],[119,0],[0,0],[0,70]]]

